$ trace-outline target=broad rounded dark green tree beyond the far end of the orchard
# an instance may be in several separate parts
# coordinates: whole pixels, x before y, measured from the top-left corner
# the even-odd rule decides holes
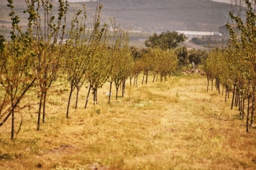
[[[145,41],[146,47],[159,47],[160,49],[174,49],[178,47],[180,42],[184,42],[186,39],[184,34],[178,34],[178,32],[162,32],[157,35],[154,33]]]

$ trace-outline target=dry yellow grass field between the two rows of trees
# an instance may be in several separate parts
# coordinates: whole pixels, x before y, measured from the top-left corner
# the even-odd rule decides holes
[[[68,119],[68,85],[55,84],[40,131],[38,99],[27,95],[22,102],[31,107],[19,110],[17,139],[9,141],[10,120],[0,127],[0,169],[256,169],[256,129],[246,133],[238,108],[230,110],[231,97],[225,102],[215,89],[206,92],[206,77],[141,80],[137,87],[128,80],[118,100],[113,88],[110,104],[106,83],[99,104],[90,95],[86,109],[84,86]]]

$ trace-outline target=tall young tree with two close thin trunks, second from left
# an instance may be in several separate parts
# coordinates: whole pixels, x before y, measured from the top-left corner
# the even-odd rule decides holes
[[[63,35],[65,34],[65,14],[68,11],[68,1],[60,0],[58,6],[58,19],[50,16],[52,4],[47,0],[26,1],[28,18],[28,33],[33,37],[35,55],[35,70],[37,75],[37,85],[39,87],[39,109],[37,119],[37,131],[40,130],[40,118],[42,110],[42,123],[45,123],[45,105],[47,91],[52,83],[57,80],[58,70],[60,68],[60,59],[63,57]],[[40,10],[44,11],[44,20],[40,15]],[[63,19],[64,17],[64,19]],[[50,19],[49,19],[50,18]],[[62,32],[60,32],[63,24]],[[44,25],[45,27],[42,27]],[[60,43],[58,44],[58,36]]]

